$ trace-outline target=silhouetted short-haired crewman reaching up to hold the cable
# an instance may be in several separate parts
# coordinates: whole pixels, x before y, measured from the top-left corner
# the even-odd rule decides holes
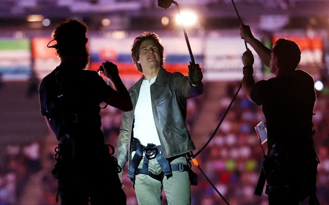
[[[275,77],[255,82],[254,58],[248,49],[242,55],[242,86],[248,99],[262,106],[267,128],[268,152],[263,162],[269,205],[297,205],[310,196],[317,204],[317,158],[313,134],[316,101],[313,77],[296,69],[299,46],[280,38],[272,50],[254,38],[249,26],[240,24],[241,38],[257,52]]]

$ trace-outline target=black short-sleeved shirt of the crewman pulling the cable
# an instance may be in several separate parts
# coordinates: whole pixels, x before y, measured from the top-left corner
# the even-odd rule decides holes
[[[312,136],[316,92],[309,73],[296,70],[291,75],[260,80],[250,97],[262,105],[269,150],[274,143],[291,146]]]

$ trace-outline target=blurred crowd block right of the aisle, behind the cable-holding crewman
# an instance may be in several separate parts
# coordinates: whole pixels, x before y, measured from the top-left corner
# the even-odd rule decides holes
[[[239,84],[240,82],[228,84],[226,97],[220,99],[217,108],[215,120],[218,122],[236,94]],[[320,160],[316,195],[320,204],[329,204],[329,96],[317,93],[314,113],[314,140]],[[203,166],[205,174],[231,205],[268,204],[265,188],[262,196],[254,194],[263,155],[267,152],[266,143],[263,145],[263,152],[254,128],[262,120],[266,119],[261,107],[251,103],[241,89],[215,137],[199,156],[204,162],[200,166]],[[208,133],[208,138],[211,134],[213,133]],[[225,200],[200,172],[198,176],[198,186],[192,187],[192,204],[225,204]],[[308,204],[308,198],[300,204]]]

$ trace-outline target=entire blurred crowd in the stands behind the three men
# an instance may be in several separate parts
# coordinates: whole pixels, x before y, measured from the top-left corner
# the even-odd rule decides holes
[[[214,121],[219,122],[224,116],[231,100],[238,90],[240,82],[227,84],[224,97],[218,100],[214,107]],[[127,85],[129,87],[129,85]],[[193,126],[200,115],[197,105],[201,98],[188,100],[187,124],[193,138]],[[206,98],[205,98],[206,99]],[[102,129],[106,144],[116,150],[117,137],[123,112],[102,105]],[[263,149],[257,137],[255,126],[265,120],[261,107],[250,103],[243,89],[236,96],[232,107],[222,121],[214,138],[197,156],[199,168],[192,165],[192,170],[198,175],[198,185],[192,186],[192,205],[266,205],[267,195],[263,190],[262,196],[255,195],[255,188],[261,171],[263,149],[266,153],[266,143]],[[329,96],[317,93],[314,115],[314,135],[316,152],[320,160],[317,174],[317,196],[321,205],[329,202]],[[205,132],[203,143],[209,140],[214,130]],[[51,136],[54,137],[54,136]],[[43,151],[40,151],[40,146]],[[26,145],[6,146],[6,166],[0,170],[0,205],[17,205],[25,189],[29,176],[38,173],[40,176],[40,194],[37,205],[55,205],[57,181],[51,175],[55,164],[54,149],[57,141],[33,142]],[[126,185],[128,205],[137,205],[136,196],[131,181],[124,170],[123,183]],[[211,181],[211,183],[207,180]],[[301,204],[307,204],[306,199]],[[163,205],[167,202],[163,201]]]

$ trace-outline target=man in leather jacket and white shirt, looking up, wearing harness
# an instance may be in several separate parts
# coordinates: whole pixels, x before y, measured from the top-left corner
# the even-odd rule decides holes
[[[135,38],[132,59],[143,76],[129,89],[133,110],[122,119],[118,164],[124,168],[129,161],[128,177],[139,205],[160,205],[163,188],[168,204],[190,204],[186,154],[195,146],[185,119],[187,98],[203,93],[201,68],[190,63],[189,76],[167,72],[164,48],[154,32]]]

